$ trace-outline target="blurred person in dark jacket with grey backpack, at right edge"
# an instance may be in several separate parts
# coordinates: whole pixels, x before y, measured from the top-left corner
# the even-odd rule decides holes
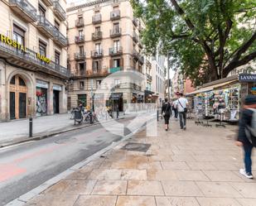
[[[248,95],[244,101],[244,108],[239,121],[239,136],[235,142],[237,146],[244,148],[244,169],[239,173],[249,179],[253,179],[252,174],[252,151],[256,146],[256,96]]]

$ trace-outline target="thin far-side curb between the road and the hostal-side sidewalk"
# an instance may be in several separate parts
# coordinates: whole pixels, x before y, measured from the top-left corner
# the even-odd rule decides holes
[[[120,120],[120,119],[124,119],[125,117],[120,117],[118,119],[111,119],[109,121],[106,121],[106,122],[110,122],[110,121],[114,121],[114,120]],[[65,133],[65,132],[71,132],[71,131],[75,131],[75,130],[78,130],[78,129],[81,129],[81,128],[86,128],[86,127],[94,127],[96,125],[99,125],[100,122],[96,122],[92,125],[83,125],[83,126],[80,126],[80,127],[72,127],[72,128],[69,128],[69,129],[65,129],[65,130],[59,130],[59,131],[55,131],[55,132],[51,132],[51,133],[47,133],[47,134],[41,134],[41,135],[37,135],[36,137],[26,137],[24,139],[22,139],[22,137],[20,137],[18,141],[12,141],[12,142],[8,142],[6,144],[1,144],[0,145],[0,148],[3,148],[3,147],[6,147],[6,146],[14,146],[14,145],[17,145],[17,144],[21,144],[21,143],[24,143],[24,142],[27,142],[27,141],[38,141],[38,140],[42,140],[42,139],[46,139],[48,137],[53,137],[55,135],[58,135],[58,134],[62,134],[62,133]]]

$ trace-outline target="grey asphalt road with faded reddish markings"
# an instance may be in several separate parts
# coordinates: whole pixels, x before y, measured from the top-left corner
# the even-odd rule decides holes
[[[131,118],[119,120],[127,124]],[[129,133],[125,131],[125,135]],[[7,204],[72,165],[104,149],[120,136],[98,125],[0,150],[0,205]]]

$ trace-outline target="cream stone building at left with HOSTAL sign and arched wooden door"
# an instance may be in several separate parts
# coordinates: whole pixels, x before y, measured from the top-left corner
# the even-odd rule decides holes
[[[0,2],[0,120],[66,112],[65,0]]]

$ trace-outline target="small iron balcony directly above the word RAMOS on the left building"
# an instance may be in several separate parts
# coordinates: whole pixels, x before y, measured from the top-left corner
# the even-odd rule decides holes
[[[37,28],[49,38],[56,36],[56,27],[46,17],[38,16]]]

